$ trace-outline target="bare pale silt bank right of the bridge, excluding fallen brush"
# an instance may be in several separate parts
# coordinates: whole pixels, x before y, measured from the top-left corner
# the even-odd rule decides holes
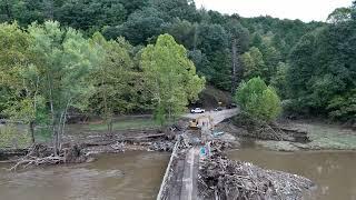
[[[226,121],[217,126],[217,130],[235,136],[240,143],[257,146],[275,151],[299,150],[356,150],[356,131],[339,124],[328,124],[319,121],[281,121],[280,127],[287,127],[298,132],[305,132],[309,141],[278,141],[255,138],[245,127]],[[248,137],[251,136],[251,137]]]

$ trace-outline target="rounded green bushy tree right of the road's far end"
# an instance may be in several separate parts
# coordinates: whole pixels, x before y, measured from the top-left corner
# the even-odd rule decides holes
[[[243,111],[258,120],[271,122],[281,112],[281,103],[276,90],[267,87],[259,77],[243,82],[237,89],[235,100]]]

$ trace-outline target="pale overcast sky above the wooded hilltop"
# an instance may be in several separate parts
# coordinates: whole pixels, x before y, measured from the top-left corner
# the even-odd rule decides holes
[[[241,17],[271,16],[280,19],[325,21],[339,7],[349,7],[353,0],[195,0],[197,8]]]

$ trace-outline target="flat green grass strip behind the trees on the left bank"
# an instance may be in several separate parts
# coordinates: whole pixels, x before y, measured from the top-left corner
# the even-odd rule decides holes
[[[128,129],[155,129],[159,128],[159,124],[156,123],[154,119],[123,119],[113,122],[112,129],[113,130],[128,130]],[[91,131],[106,131],[107,124],[89,124],[89,130]]]

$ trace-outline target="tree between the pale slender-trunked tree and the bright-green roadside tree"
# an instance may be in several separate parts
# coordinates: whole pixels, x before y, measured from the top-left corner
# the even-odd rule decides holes
[[[91,108],[103,116],[108,132],[112,133],[112,116],[127,113],[137,106],[137,91],[140,73],[134,69],[129,50],[132,47],[119,38],[107,41],[100,33],[95,33],[92,43],[101,50],[102,61],[92,71],[96,92],[90,98]]]

